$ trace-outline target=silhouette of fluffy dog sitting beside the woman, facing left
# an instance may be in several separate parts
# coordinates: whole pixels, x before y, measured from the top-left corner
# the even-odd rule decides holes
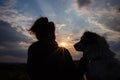
[[[88,60],[85,75],[87,80],[120,80],[120,62],[109,48],[104,37],[90,31],[84,32],[81,40],[74,44]]]

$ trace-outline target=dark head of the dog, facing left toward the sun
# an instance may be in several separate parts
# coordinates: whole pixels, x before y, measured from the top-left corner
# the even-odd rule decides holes
[[[79,42],[74,44],[77,51],[82,51],[83,55],[95,57],[103,55],[102,51],[109,49],[109,45],[104,37],[90,31],[84,32]],[[100,53],[100,54],[99,54]]]

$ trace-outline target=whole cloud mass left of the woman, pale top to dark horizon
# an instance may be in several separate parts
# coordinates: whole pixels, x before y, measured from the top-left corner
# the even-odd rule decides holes
[[[0,1],[0,55],[27,57],[27,48],[33,41],[28,33],[33,18],[15,8],[16,0]]]

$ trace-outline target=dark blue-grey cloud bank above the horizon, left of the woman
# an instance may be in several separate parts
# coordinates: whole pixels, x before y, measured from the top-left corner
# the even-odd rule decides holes
[[[27,50],[19,45],[22,41],[28,41],[25,35],[17,32],[9,23],[0,20],[0,56],[27,57]]]

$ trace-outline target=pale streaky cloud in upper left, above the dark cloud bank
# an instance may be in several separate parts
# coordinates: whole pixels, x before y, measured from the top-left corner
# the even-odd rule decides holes
[[[26,16],[17,9],[15,9],[16,0],[2,0],[0,4],[0,20],[5,21],[11,25],[16,31],[30,38],[28,29],[32,25],[33,18]]]

